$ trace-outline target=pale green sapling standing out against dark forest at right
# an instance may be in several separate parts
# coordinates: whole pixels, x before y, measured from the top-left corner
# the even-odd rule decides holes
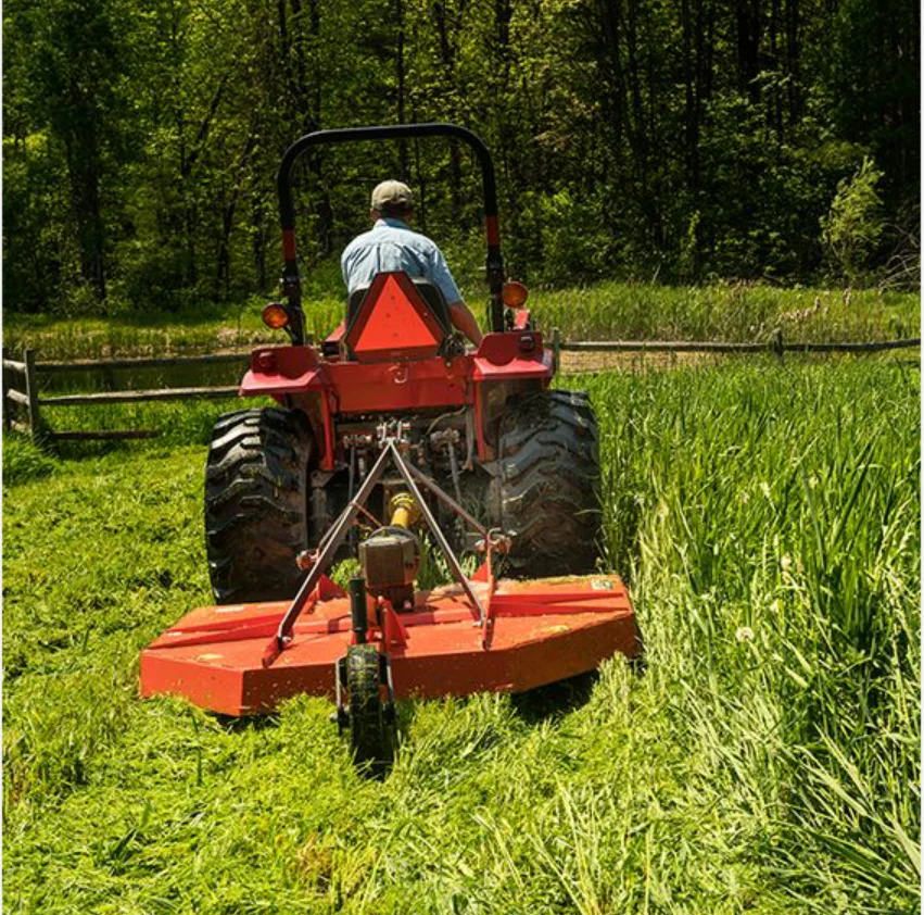
[[[864,276],[883,236],[883,202],[876,185],[883,177],[872,159],[837,185],[831,211],[821,221],[822,241],[832,266],[849,283]]]

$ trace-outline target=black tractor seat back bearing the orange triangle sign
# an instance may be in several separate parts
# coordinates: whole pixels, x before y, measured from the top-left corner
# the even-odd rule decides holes
[[[452,333],[450,306],[438,286],[404,271],[380,273],[354,289],[343,341],[357,362],[438,355]]]

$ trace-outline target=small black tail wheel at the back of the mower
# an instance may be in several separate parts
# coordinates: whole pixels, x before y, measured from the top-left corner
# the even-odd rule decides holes
[[[350,645],[346,651],[350,743],[358,764],[388,763],[394,752],[394,714],[382,702],[380,654],[374,644]]]

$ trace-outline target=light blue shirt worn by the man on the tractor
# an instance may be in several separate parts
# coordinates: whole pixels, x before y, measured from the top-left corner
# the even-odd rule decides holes
[[[447,304],[463,300],[443,252],[401,220],[378,220],[369,231],[356,236],[344,249],[340,266],[349,292],[371,285],[383,271],[404,271],[438,286]]]

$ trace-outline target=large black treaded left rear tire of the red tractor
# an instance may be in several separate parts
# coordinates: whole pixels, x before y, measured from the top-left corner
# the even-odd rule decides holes
[[[304,414],[265,408],[221,416],[205,465],[205,544],[219,604],[288,600],[305,573],[308,472]]]

